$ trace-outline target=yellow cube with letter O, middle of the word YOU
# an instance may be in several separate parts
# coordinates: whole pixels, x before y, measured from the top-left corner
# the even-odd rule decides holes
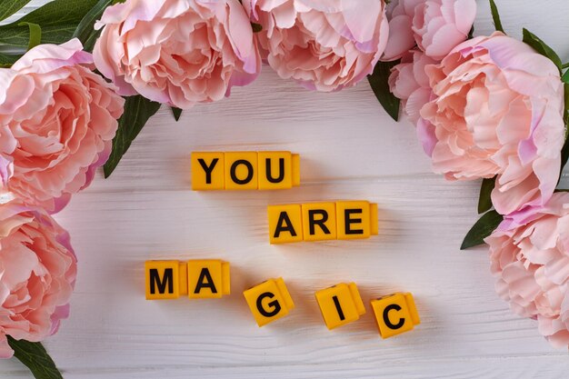
[[[225,189],[254,190],[259,188],[256,152],[225,153]]]

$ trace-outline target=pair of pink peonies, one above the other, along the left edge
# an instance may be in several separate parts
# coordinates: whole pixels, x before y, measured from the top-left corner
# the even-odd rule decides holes
[[[6,335],[40,341],[68,314],[76,259],[50,214],[91,183],[123,114],[115,85],[74,39],[0,69],[0,356]]]

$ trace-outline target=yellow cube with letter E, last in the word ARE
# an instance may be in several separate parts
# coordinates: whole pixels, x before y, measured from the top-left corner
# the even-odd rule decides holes
[[[366,201],[336,202],[336,224],[340,240],[369,238],[378,234],[377,204]]]

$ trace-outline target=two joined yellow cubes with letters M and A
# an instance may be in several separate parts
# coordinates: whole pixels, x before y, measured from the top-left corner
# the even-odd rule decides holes
[[[219,298],[230,294],[229,264],[217,259],[146,261],[146,300]]]

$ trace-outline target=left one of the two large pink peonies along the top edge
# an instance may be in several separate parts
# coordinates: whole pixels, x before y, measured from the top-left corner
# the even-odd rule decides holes
[[[121,95],[188,109],[228,96],[261,70],[238,0],[126,0],[106,8],[95,65]]]

